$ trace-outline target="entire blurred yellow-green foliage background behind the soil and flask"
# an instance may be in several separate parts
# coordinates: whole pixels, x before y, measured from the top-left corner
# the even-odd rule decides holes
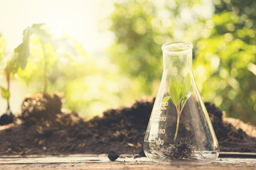
[[[53,55],[48,90],[63,91],[66,108],[90,118],[142,96],[155,96],[162,74],[161,45],[182,40],[193,43],[193,73],[203,100],[229,117],[256,125],[256,1],[113,3],[114,11],[105,21],[112,23],[107,29],[114,33],[114,42],[104,53],[90,56],[63,35],[72,40],[78,56]],[[36,42],[36,36],[31,38],[33,57],[16,79],[26,80],[31,91],[42,91]]]

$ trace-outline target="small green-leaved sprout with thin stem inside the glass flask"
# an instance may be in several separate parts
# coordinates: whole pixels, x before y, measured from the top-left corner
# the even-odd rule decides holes
[[[185,106],[186,101],[190,98],[191,94],[188,93],[191,87],[191,77],[189,74],[186,75],[183,80],[182,86],[178,84],[178,82],[174,79],[170,82],[169,86],[169,95],[163,99],[163,103],[166,103],[171,98],[171,101],[174,103],[177,111],[177,124],[176,124],[176,132],[174,135],[174,142],[176,142],[176,137],[178,135],[178,125],[181,117],[181,112]],[[165,107],[165,106],[164,106]]]

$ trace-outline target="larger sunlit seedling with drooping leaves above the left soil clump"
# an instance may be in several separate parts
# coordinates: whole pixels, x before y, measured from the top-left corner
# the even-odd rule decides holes
[[[33,38],[31,38],[32,36]],[[33,40],[32,42],[31,39]],[[34,47],[33,49],[30,47],[31,44]],[[71,55],[76,55],[75,48],[70,44],[70,40],[54,38],[49,32],[49,28],[46,28],[45,24],[40,23],[33,24],[33,26],[23,31],[23,42],[15,49],[16,55],[21,59],[22,69],[28,64],[28,57],[41,58],[40,60],[43,63],[43,94],[47,93],[48,70],[51,64],[53,64],[58,47],[64,47]],[[36,51],[36,56],[32,56],[31,50],[38,50]],[[24,74],[21,72],[20,76],[23,77],[23,75]]]

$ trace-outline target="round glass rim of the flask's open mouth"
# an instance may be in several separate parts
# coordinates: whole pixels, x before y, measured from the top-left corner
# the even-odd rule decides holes
[[[193,44],[191,42],[169,42],[162,45],[161,49],[165,52],[184,52],[186,50],[192,50]]]

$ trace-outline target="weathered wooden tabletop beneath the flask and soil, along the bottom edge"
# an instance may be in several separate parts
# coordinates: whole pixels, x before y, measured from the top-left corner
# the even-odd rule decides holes
[[[224,155],[224,154],[223,154]],[[171,166],[149,162],[146,157],[121,155],[111,162],[106,154],[75,154],[68,156],[0,156],[0,169],[256,169],[256,157],[219,157],[215,162],[201,166]],[[220,155],[221,156],[221,155]],[[249,155],[250,156],[250,155]]]

